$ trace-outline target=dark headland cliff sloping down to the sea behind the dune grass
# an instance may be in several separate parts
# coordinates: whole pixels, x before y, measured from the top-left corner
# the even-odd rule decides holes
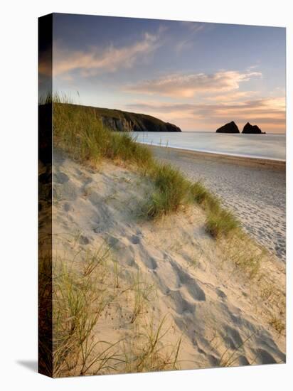
[[[63,104],[64,105],[64,104]],[[105,127],[117,132],[181,132],[179,127],[151,115],[84,106],[95,111]]]

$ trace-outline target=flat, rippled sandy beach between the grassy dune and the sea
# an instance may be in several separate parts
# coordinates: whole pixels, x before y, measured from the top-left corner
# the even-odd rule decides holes
[[[201,180],[233,210],[244,229],[285,261],[286,171],[283,161],[151,146],[157,159]]]

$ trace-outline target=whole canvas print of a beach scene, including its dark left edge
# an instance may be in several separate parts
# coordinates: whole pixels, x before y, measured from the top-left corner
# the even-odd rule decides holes
[[[39,372],[285,363],[285,28],[38,35]]]

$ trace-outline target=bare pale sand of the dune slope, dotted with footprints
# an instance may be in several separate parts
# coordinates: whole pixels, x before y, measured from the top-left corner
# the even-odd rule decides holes
[[[138,328],[166,316],[168,332],[160,343],[176,346],[182,337],[181,369],[284,363],[284,331],[272,322],[284,315],[282,262],[269,257],[264,279],[247,277],[206,234],[204,212],[196,206],[146,221],[141,210],[151,184],[129,168],[105,161],[92,169],[55,151],[53,178],[56,254],[70,264],[76,254],[82,259],[106,242],[122,286],[138,272],[151,286],[135,321],[133,296],[121,296],[102,312],[93,338],[124,338],[129,346]],[[272,282],[277,299],[265,290]]]

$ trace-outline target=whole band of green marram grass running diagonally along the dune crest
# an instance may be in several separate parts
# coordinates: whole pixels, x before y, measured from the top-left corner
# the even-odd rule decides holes
[[[228,235],[238,227],[234,215],[220,206],[220,201],[201,183],[192,183],[181,171],[157,162],[151,150],[124,132],[112,132],[102,124],[92,107],[73,105],[66,97],[55,95],[53,102],[54,145],[80,162],[97,165],[102,159],[134,164],[154,184],[144,213],[160,218],[192,203],[207,213],[206,230],[213,237]]]

